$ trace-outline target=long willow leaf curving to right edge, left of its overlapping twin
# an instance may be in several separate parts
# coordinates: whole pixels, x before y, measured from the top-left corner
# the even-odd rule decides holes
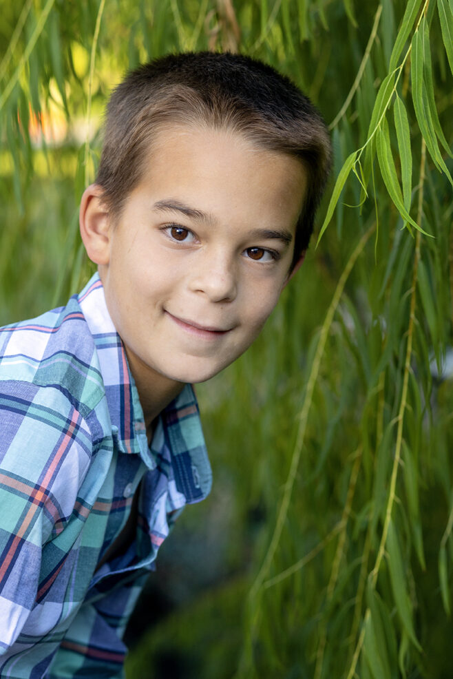
[[[422,22],[423,23],[423,22]],[[445,172],[448,180],[453,184],[450,172],[445,165],[439,145],[437,143],[436,132],[432,122],[428,97],[426,95],[425,81],[423,78],[423,26],[422,30],[414,33],[412,38],[412,60],[411,60],[411,79],[412,79],[412,100],[414,101],[415,115],[419,123],[421,134],[425,139],[426,146],[434,164],[438,169]]]

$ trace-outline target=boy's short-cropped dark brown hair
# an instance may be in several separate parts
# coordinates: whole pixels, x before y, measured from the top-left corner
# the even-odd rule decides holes
[[[114,216],[140,182],[154,137],[172,124],[231,129],[302,161],[308,181],[295,262],[308,247],[330,169],[326,124],[308,97],[271,66],[240,54],[171,54],[129,72],[107,106],[96,178]]]

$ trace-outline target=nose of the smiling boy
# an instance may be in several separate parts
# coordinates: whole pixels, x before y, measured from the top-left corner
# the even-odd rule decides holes
[[[203,253],[192,273],[191,290],[207,295],[211,302],[232,302],[238,293],[233,261],[221,251]]]

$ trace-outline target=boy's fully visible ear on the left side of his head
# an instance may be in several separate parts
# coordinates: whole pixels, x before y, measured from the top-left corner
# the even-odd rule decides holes
[[[101,267],[109,263],[111,231],[109,213],[102,196],[103,189],[98,184],[87,187],[83,192],[78,216],[87,255]]]

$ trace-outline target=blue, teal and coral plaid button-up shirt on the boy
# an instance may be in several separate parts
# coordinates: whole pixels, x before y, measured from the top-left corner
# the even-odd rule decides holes
[[[96,570],[137,488],[135,538]],[[97,274],[67,306],[0,328],[0,676],[122,677],[158,548],[210,488],[191,386],[149,448]]]

